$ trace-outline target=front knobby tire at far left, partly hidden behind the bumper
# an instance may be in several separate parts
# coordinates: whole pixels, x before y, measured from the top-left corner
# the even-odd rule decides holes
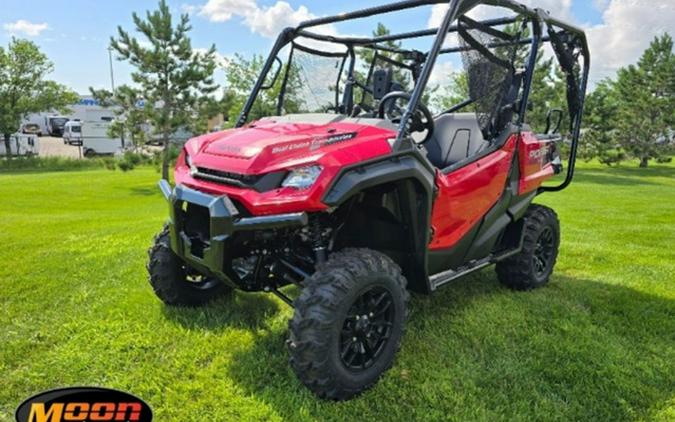
[[[167,305],[201,306],[232,291],[219,280],[188,273],[188,267],[171,250],[168,226],[155,236],[148,255],[150,285]]]

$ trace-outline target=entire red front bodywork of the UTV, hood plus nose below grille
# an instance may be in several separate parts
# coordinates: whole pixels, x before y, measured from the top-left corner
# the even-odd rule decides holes
[[[176,184],[210,194],[227,194],[252,215],[323,211],[327,206],[321,198],[338,172],[351,164],[391,153],[388,139],[395,136],[391,130],[351,123],[315,125],[264,120],[246,128],[194,138],[185,145],[185,151],[197,167],[245,175],[318,164],[323,171],[311,188],[257,192],[195,179],[185,164],[185,151],[178,158],[175,180]]]

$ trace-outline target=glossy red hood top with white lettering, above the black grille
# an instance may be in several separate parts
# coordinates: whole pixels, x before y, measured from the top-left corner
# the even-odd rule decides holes
[[[353,155],[351,150],[357,145],[394,136],[391,130],[355,123],[317,125],[263,120],[192,139],[186,149],[198,167],[261,174],[317,162],[327,154],[341,155],[339,160],[345,161],[344,154]],[[347,161],[354,159],[359,158]]]

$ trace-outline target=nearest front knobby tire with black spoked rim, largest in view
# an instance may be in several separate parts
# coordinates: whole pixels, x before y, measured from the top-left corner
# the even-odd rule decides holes
[[[289,322],[290,364],[321,398],[346,400],[370,388],[400,347],[409,294],[386,255],[345,249],[305,282]]]

